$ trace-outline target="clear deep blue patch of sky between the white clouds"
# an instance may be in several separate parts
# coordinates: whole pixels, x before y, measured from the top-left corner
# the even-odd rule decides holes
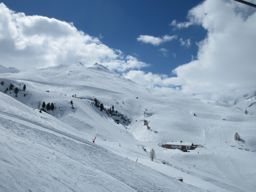
[[[195,42],[206,35],[202,26],[192,26],[186,30],[175,30],[169,24],[173,20],[186,21],[188,10],[202,0],[3,0],[4,4],[16,12],[27,16],[40,15],[48,18],[73,22],[78,30],[90,36],[100,37],[100,41],[110,48],[119,49],[124,54],[132,54],[150,64],[146,72],[172,75],[172,70],[191,61],[198,47]],[[139,42],[140,35],[161,37],[178,35],[177,39],[158,46]],[[191,40],[190,47],[181,46],[180,38]],[[162,49],[162,51],[161,51]],[[76,62],[76,61],[74,61]]]

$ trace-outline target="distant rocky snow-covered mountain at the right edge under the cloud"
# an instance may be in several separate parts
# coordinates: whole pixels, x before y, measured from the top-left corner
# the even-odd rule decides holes
[[[234,101],[234,105],[244,108],[250,113],[256,113],[256,91],[251,94],[246,94],[242,97],[237,98]]]

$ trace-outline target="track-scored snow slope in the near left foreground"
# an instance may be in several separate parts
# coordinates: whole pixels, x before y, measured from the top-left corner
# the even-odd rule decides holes
[[[13,118],[4,117],[1,114],[1,160],[5,162],[2,172],[10,174],[2,178],[4,185],[1,187],[6,191],[27,191],[30,188],[36,191],[63,191],[66,188],[72,191],[181,190],[183,183],[174,180],[172,184],[166,184],[172,178],[154,170],[148,171],[146,166],[118,157],[104,148],[84,145],[80,141],[32,128],[22,120],[16,122]],[[69,173],[69,178],[66,173]],[[16,181],[15,185],[12,180]],[[26,185],[28,181],[30,186]]]

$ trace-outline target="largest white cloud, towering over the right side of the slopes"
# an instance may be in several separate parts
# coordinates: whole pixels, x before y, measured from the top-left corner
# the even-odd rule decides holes
[[[170,92],[174,86],[179,94],[208,100],[232,102],[255,91],[255,10],[231,0],[205,0],[189,11],[188,19],[172,25],[180,29],[201,25],[207,36],[198,43],[194,60],[173,70],[176,77],[141,71],[125,75],[145,86],[159,86],[158,89]]]

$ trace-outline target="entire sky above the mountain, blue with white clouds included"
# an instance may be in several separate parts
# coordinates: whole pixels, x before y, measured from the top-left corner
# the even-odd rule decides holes
[[[256,90],[255,31],[256,9],[234,0],[2,0],[0,60],[98,62],[157,90],[233,102]]]

